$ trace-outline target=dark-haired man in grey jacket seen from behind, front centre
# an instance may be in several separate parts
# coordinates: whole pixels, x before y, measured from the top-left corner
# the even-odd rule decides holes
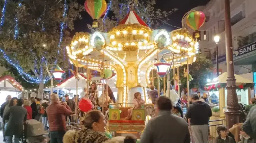
[[[149,120],[141,136],[141,143],[190,143],[187,122],[171,114],[172,102],[160,96],[156,102],[158,116]]]

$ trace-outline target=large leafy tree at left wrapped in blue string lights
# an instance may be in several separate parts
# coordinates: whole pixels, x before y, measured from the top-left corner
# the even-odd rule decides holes
[[[49,70],[52,64],[68,68],[68,58],[62,60],[64,47],[70,43],[73,21],[81,18],[83,10],[75,0],[7,1],[0,29],[1,64],[9,72],[14,67],[25,81],[37,84],[41,96],[50,79],[46,66]]]

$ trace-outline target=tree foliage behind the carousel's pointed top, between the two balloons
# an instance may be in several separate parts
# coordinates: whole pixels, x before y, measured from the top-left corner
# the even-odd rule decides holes
[[[112,16],[108,17],[106,15],[100,18],[98,20],[99,27],[96,29],[92,28],[90,24],[87,24],[87,26],[91,31],[109,31],[117,26],[133,8],[133,11],[135,11],[150,28],[157,29],[163,25],[158,19],[162,19],[165,22],[168,21],[168,16],[177,11],[177,8],[173,8],[171,11],[155,9],[154,5],[156,1],[157,0],[138,0],[136,4],[133,3],[133,0],[110,0],[108,6],[112,12],[110,13]]]

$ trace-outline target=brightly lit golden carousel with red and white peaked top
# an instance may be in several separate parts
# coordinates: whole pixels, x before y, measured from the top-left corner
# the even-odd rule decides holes
[[[85,8],[90,13],[86,2]],[[90,15],[93,16],[92,13]],[[190,11],[186,16],[187,24],[194,27],[195,37],[198,38],[200,34],[197,28],[205,21],[203,12]],[[93,26],[97,27],[95,21]],[[145,127],[146,115],[152,115],[154,109],[146,93],[146,88],[152,83],[149,76],[152,69],[157,70],[157,89],[160,95],[160,78],[170,81],[171,69],[187,65],[188,71],[188,65],[196,60],[199,50],[197,39],[185,28],[171,32],[165,29],[151,29],[134,11],[130,11],[118,26],[108,32],[102,31],[76,33],[71,44],[66,47],[67,54],[77,69],[87,69],[87,75],[90,75],[89,70],[102,73],[111,70],[116,74],[114,82],[118,100],[108,109],[109,131],[116,134],[135,132],[139,138]],[[101,77],[107,84],[108,77],[104,74]],[[86,85],[88,89],[89,80]],[[170,82],[167,82],[167,91],[169,87]],[[102,92],[104,94],[104,90]],[[141,109],[134,109],[132,119],[125,120],[136,92],[141,93],[146,105]]]

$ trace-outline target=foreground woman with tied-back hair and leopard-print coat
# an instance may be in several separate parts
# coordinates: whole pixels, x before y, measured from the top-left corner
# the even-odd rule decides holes
[[[110,140],[105,132],[106,120],[101,111],[90,111],[85,115],[84,128],[78,131],[69,130],[63,137],[63,143],[103,143]]]

